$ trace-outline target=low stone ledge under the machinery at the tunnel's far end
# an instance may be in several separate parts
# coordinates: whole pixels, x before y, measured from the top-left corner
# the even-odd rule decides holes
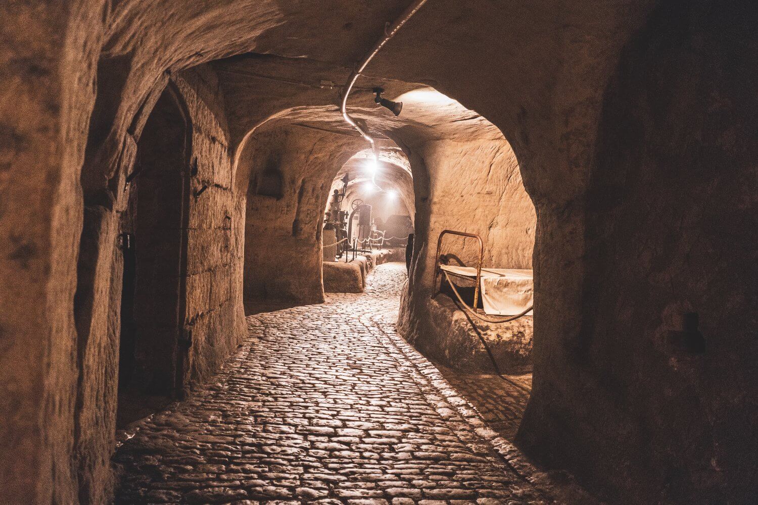
[[[377,265],[388,261],[405,261],[404,248],[381,249],[356,256],[348,262],[324,261],[325,293],[362,293],[366,276]]]

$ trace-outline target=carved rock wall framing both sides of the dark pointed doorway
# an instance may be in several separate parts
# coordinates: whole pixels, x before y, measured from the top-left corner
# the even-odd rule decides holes
[[[234,219],[227,129],[218,106],[221,96],[215,88],[214,76],[187,71],[171,79],[168,86],[174,89],[186,114],[186,127],[190,129],[184,165],[179,167],[184,170],[184,177],[189,177],[189,191],[181,200],[186,202],[183,205],[188,212],[186,221],[180,225],[186,226],[185,260],[177,265],[183,280],[179,297],[184,303],[179,305],[180,312],[183,311],[179,314],[182,327],[164,335],[174,340],[168,341],[161,348],[165,352],[155,359],[173,361],[174,367],[181,370],[176,382],[165,386],[167,391],[181,394],[218,370],[244,336],[241,291],[239,282],[235,282],[241,271],[242,238],[234,235],[237,231],[241,235],[242,227],[233,226],[235,221],[241,223],[242,217],[238,214]],[[158,88],[155,93],[156,100],[161,90]],[[149,116],[154,103],[149,102],[143,114]],[[80,333],[81,373],[72,437],[80,500],[93,503],[107,501],[110,494],[123,271],[123,255],[116,247],[116,235],[129,196],[129,189],[124,191],[124,176],[134,168],[139,151],[136,139],[141,133],[141,128],[127,132],[123,150],[109,151],[112,144],[106,144],[95,158],[117,160],[120,176],[112,193],[117,199],[109,204],[111,210],[96,202],[86,206],[80,245],[80,285],[74,313]],[[203,186],[207,186],[205,191],[198,194]],[[179,201],[176,203],[179,206]],[[171,220],[167,215],[157,215],[155,219]],[[182,234],[181,229],[156,232]],[[174,263],[181,263],[178,257]],[[92,276],[88,275],[90,265],[96,265]],[[171,276],[170,272],[158,274]],[[189,335],[189,331],[191,341],[183,344],[179,340]]]

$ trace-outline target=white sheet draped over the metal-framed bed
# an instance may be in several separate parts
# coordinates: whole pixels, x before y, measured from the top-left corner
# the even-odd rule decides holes
[[[476,279],[474,267],[440,265],[456,276]],[[481,269],[481,299],[484,313],[493,316],[515,316],[534,303],[534,279],[531,270],[515,268]],[[530,310],[528,316],[532,315]]]

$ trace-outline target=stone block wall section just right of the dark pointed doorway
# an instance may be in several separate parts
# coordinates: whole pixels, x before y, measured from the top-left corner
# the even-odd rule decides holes
[[[237,235],[243,226],[234,203],[228,129],[215,74],[188,70],[175,83],[191,116],[191,164],[196,166],[187,230],[186,325],[192,348],[185,377],[196,385],[221,367],[245,333],[236,280],[242,261]]]

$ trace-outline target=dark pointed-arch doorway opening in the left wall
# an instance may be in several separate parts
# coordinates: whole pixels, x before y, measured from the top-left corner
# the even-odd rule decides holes
[[[137,398],[182,396],[191,330],[186,320],[192,126],[177,92],[164,90],[137,143],[121,214],[119,420],[144,416]],[[130,394],[128,394],[130,393]],[[129,398],[136,412],[124,413]],[[153,401],[155,403],[155,400]]]

